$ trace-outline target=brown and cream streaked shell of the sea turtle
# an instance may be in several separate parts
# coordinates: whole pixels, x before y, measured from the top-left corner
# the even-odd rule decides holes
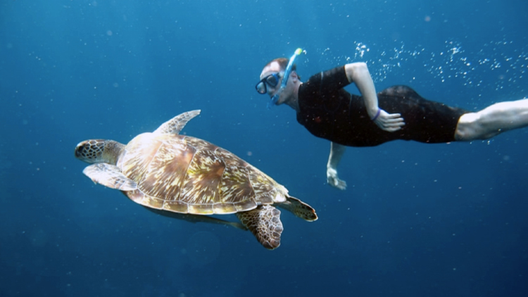
[[[143,206],[196,215],[247,211],[286,200],[287,189],[230,151],[180,134],[139,134],[118,158]]]

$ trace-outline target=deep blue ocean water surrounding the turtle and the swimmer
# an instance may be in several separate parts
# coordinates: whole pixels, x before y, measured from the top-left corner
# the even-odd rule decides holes
[[[348,148],[256,93],[291,56],[354,61],[378,90],[479,110],[528,96],[528,4],[510,1],[2,1],[0,296],[528,296],[528,129],[489,141]],[[358,94],[355,87],[348,91]],[[82,175],[75,145],[184,133],[313,206],[282,245],[150,213]],[[232,217],[234,219],[234,217]]]

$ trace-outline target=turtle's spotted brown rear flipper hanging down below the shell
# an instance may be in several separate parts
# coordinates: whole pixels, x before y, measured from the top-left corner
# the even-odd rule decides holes
[[[268,205],[258,206],[253,210],[237,213],[237,217],[265,248],[272,250],[280,246],[280,210]]]

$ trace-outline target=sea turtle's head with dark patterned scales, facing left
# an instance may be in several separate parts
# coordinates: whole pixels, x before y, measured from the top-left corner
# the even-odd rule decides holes
[[[123,144],[113,140],[85,140],[75,147],[75,158],[90,164],[108,163],[115,165],[123,147]]]

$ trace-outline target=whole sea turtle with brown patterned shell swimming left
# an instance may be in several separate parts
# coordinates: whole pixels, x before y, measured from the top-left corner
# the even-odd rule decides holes
[[[208,141],[178,134],[200,110],[139,134],[128,144],[90,139],[75,157],[92,163],[82,171],[92,181],[122,191],[132,201],[170,217],[249,229],[265,248],[280,244],[280,211],[315,221],[308,204],[246,161]],[[240,223],[204,215],[236,214]]]

